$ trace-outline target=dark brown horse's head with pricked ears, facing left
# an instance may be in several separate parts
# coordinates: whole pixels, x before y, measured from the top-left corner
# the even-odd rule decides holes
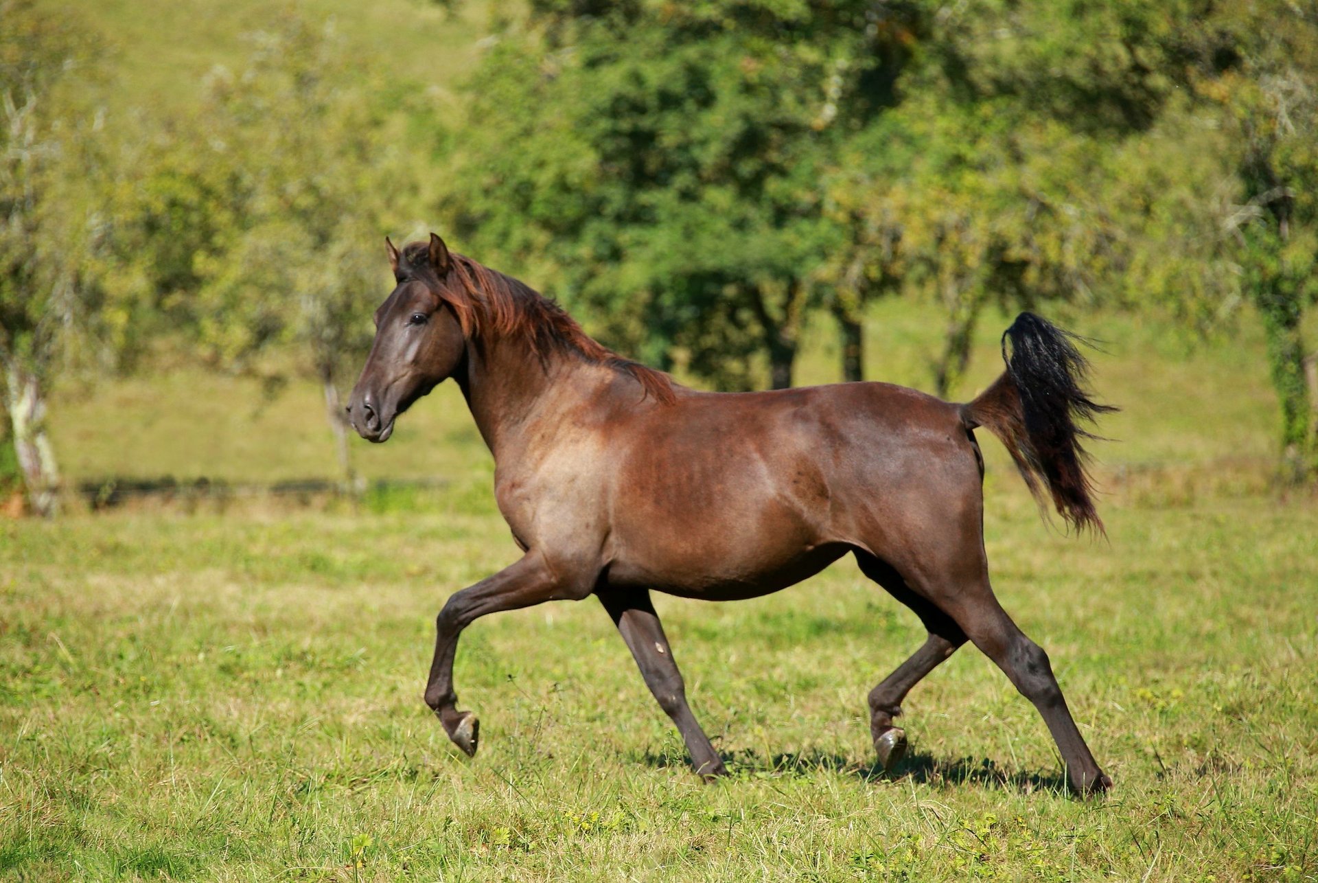
[[[452,257],[444,241],[411,242],[399,253],[387,239],[398,285],[376,310],[376,341],[348,399],[348,419],[361,438],[386,442],[411,403],[457,370],[467,336],[448,293]]]

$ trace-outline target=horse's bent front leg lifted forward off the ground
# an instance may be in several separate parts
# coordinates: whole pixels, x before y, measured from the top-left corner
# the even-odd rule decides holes
[[[453,655],[463,629],[488,613],[530,608],[544,601],[579,601],[593,588],[593,579],[564,579],[550,568],[543,555],[529,551],[522,560],[473,586],[455,592],[435,621],[435,662],[430,666],[426,704],[439,716],[457,747],[468,756],[476,754],[480,721],[471,712],[457,710],[453,692]]]

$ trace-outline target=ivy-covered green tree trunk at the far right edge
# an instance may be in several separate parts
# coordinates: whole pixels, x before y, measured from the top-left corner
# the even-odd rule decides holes
[[[1314,407],[1305,376],[1305,345],[1301,333],[1304,311],[1298,295],[1277,290],[1255,298],[1268,337],[1268,365],[1272,387],[1281,405],[1281,468],[1289,482],[1302,482],[1314,474]]]

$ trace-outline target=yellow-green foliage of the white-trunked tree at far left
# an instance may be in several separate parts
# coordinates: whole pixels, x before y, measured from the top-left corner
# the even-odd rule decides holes
[[[113,358],[132,304],[96,279],[108,157],[80,95],[99,43],[25,0],[5,0],[0,14],[0,358],[45,382],[88,352]]]

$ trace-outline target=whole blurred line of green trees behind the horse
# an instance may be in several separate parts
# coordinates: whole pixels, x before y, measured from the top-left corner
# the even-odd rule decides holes
[[[452,4],[449,4],[452,5]],[[339,390],[432,217],[610,345],[787,386],[828,314],[924,299],[937,391],[986,307],[1151,310],[1268,335],[1286,476],[1318,474],[1318,0],[527,0],[464,113],[295,12],[185,117],[105,119],[94,36],[0,0],[0,484],[53,511],[62,373],[162,347]]]

